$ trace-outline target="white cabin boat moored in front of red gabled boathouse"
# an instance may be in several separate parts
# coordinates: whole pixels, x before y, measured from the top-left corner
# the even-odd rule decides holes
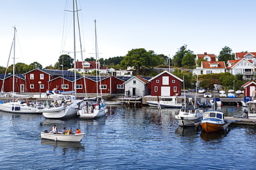
[[[149,106],[156,106],[156,107],[160,105],[161,107],[181,108],[183,103],[178,102],[177,96],[161,96],[161,100],[159,101],[147,100],[147,104]]]

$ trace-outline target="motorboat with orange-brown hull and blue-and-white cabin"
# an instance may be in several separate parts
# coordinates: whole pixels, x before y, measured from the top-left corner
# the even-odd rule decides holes
[[[219,131],[226,125],[223,111],[205,111],[203,112],[203,120],[201,120],[201,127],[206,132]]]

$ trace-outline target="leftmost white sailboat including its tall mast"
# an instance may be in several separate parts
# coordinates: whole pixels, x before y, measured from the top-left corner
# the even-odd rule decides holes
[[[14,27],[14,37],[12,40],[13,45],[13,67],[12,67],[12,93],[9,95],[12,96],[12,102],[8,103],[0,103],[0,110],[6,111],[15,114],[35,114],[40,113],[40,109],[38,109],[35,103],[29,103],[28,100],[26,102],[21,102],[15,97],[29,97],[28,95],[19,95],[15,94],[15,39],[16,39],[16,27]],[[11,49],[12,50],[12,49]],[[2,88],[3,89],[3,88]],[[3,90],[1,90],[3,91]]]

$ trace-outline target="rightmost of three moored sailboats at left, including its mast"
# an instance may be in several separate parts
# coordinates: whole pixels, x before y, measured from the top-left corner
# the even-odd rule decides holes
[[[102,91],[100,89],[100,95],[98,94],[98,81],[100,79],[100,62],[98,59],[98,44],[97,44],[97,31],[96,31],[96,20],[95,25],[95,57],[96,57],[96,89],[97,97],[93,99],[84,98],[84,101],[80,104],[78,114],[80,118],[98,118],[104,116],[107,113],[107,106],[105,100],[102,98]],[[99,72],[99,75],[98,75]]]

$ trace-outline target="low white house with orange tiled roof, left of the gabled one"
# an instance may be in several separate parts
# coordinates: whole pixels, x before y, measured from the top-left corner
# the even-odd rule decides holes
[[[196,67],[193,74],[212,74],[226,72],[226,65],[224,61],[202,61],[201,67]]]

